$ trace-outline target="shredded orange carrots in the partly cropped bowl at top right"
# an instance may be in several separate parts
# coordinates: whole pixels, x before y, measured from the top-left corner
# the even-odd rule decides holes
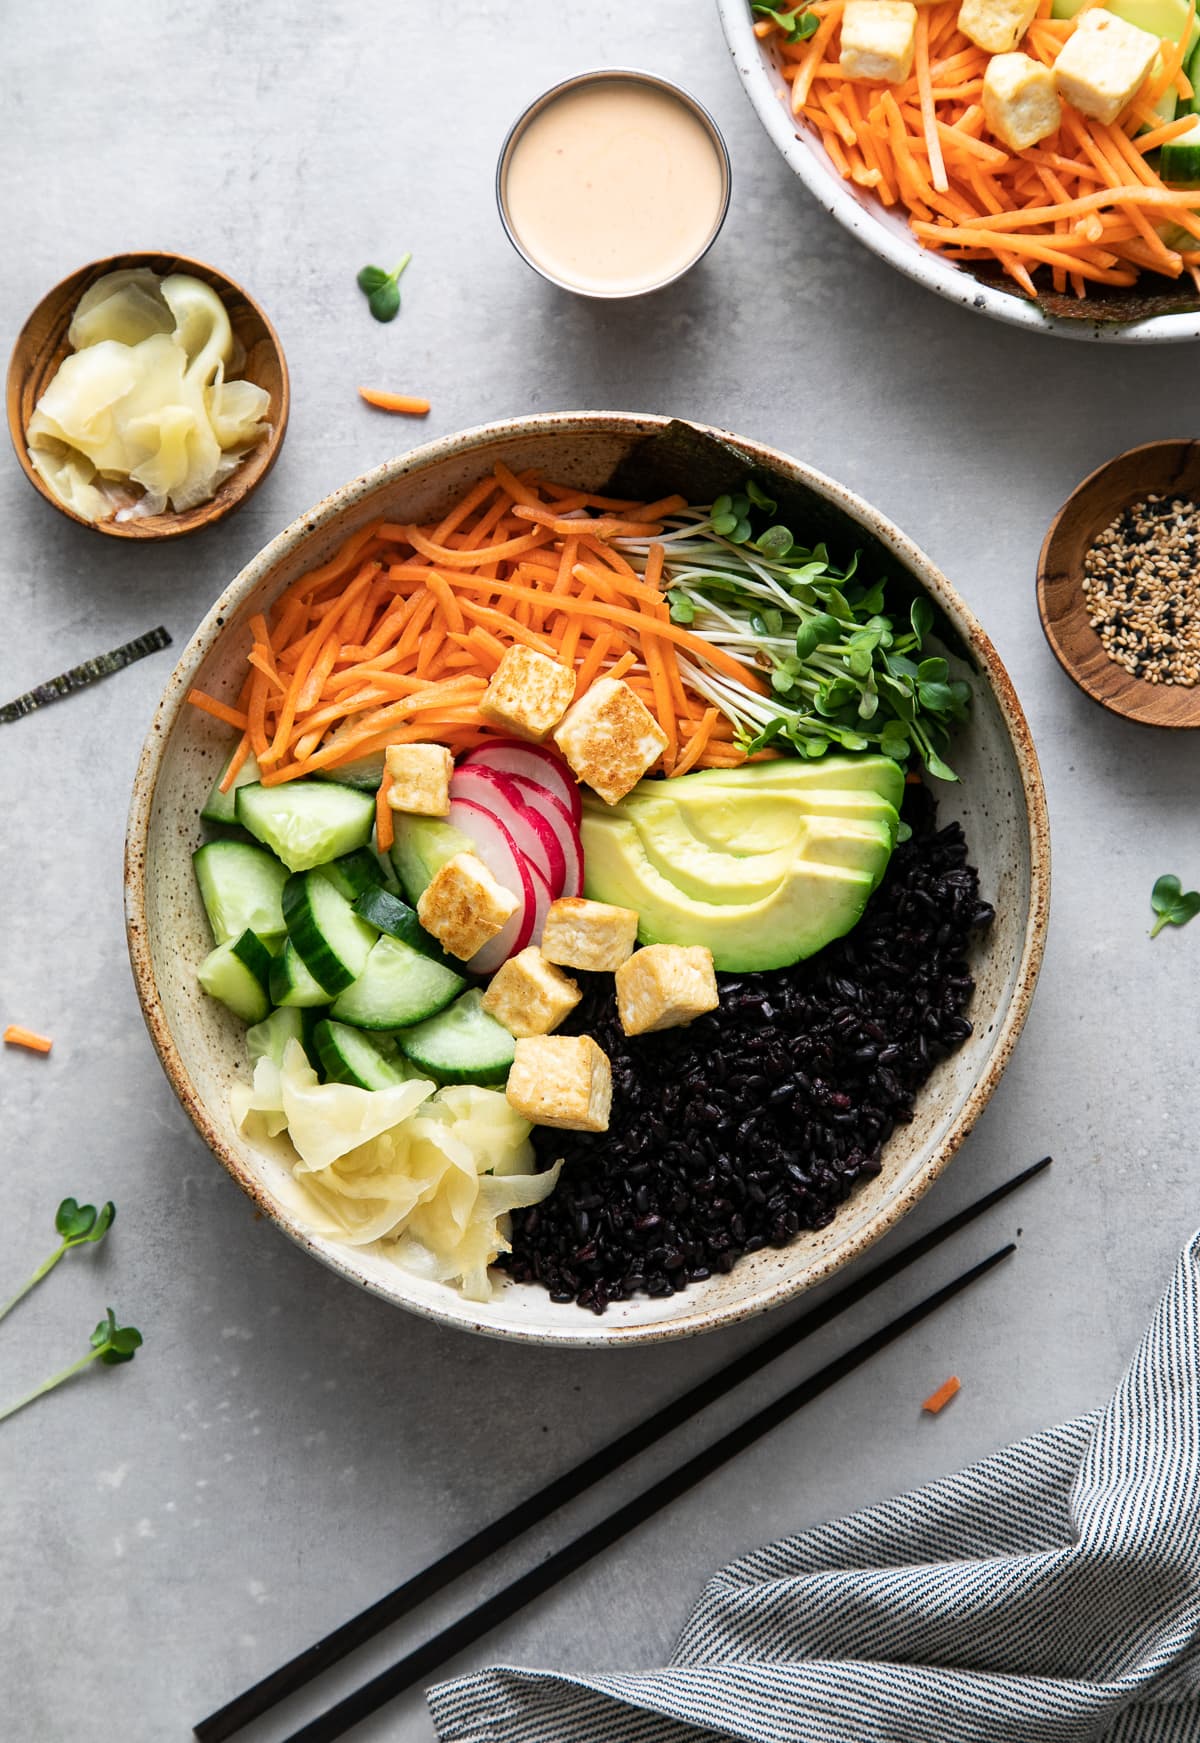
[[[1097,3],[1085,0],[1081,10]],[[1144,270],[1191,274],[1193,263],[1163,234],[1170,227],[1200,241],[1200,197],[1169,187],[1153,153],[1188,127],[1186,117],[1163,122],[1155,103],[1190,84],[1197,0],[1116,122],[1101,125],[1064,106],[1060,129],[1020,152],[985,132],[989,56],[959,31],[958,9],[958,0],[917,7],[912,70],[900,84],[860,80],[841,66],[842,0],[816,0],[820,24],[804,44],[781,42],[774,24],[764,33],[792,82],[794,113],[820,136],[837,173],[874,188],[883,206],[898,204],[924,248],[999,267],[1031,298],[1043,275],[1081,296],[1088,284],[1134,284]],[[1081,12],[1053,19],[1048,10],[1041,0],[1022,49],[1053,66]]]

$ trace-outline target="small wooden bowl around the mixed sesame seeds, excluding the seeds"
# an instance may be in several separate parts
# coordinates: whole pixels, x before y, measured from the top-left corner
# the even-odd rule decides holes
[[[1109,659],[1088,622],[1083,558],[1109,521],[1148,495],[1200,500],[1200,441],[1149,441],[1085,478],[1050,523],[1038,610],[1055,659],[1101,708],[1146,727],[1200,727],[1200,685],[1149,683]]]

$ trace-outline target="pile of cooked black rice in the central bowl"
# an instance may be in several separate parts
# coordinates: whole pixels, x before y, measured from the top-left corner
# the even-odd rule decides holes
[[[717,976],[720,1007],[685,1028],[623,1035],[612,976],[579,974],[563,1032],[612,1060],[612,1124],[535,1128],[539,1166],[565,1168],[513,1215],[502,1264],[518,1283],[593,1312],[672,1295],[823,1229],[879,1173],[917,1089],[972,1034],[966,952],[994,919],[959,824],[937,828],[923,786],[903,814],[912,838],[853,933],[790,969]]]

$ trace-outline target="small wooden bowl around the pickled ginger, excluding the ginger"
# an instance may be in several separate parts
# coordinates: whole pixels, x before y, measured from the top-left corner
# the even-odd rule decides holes
[[[270,408],[267,411],[269,432],[251,448],[237,471],[218,488],[216,495],[209,497],[208,502],[197,504],[194,509],[185,509],[181,514],[147,514],[143,519],[131,521],[119,521],[115,518],[87,521],[82,514],[75,514],[65,507],[42,478],[38,478],[30,462],[24,432],[33,417],[33,408],[63,359],[70,354],[66,329],[72,324],[72,315],[80,296],[96,279],[103,279],[106,272],[117,272],[126,267],[148,267],[150,272],[157,272],[160,277],[171,272],[188,272],[213,286],[225,303],[234,338],[246,352],[246,361],[239,375],[270,394]],[[288,364],[283,356],[279,335],[267,315],[234,279],[227,279],[216,267],[209,267],[202,260],[188,260],[185,254],[113,254],[110,260],[94,260],[89,267],[80,267],[78,272],[63,279],[52,291],[47,291],[21,328],[9,361],[9,434],[12,436],[12,446],[24,476],[59,514],[66,514],[68,519],[78,521],[80,526],[89,526],[92,532],[108,533],[110,539],[178,539],[181,533],[194,533],[197,528],[209,526],[213,521],[220,521],[225,514],[230,514],[256,490],[276,464],[284,431],[288,429],[290,403]]]

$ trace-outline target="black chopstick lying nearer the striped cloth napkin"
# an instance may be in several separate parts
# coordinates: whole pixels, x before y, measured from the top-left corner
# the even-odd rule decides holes
[[[387,1701],[403,1694],[415,1682],[420,1682],[431,1672],[445,1665],[448,1658],[455,1658],[467,1645],[478,1640],[481,1635],[490,1633],[497,1623],[508,1621],[516,1611],[523,1609],[534,1598],[542,1597],[551,1586],[556,1586],[560,1579],[567,1574],[574,1574],[579,1567],[590,1562],[602,1550],[617,1543],[637,1525],[645,1523],[661,1508],[670,1506],[672,1501],[678,1501],[685,1495],[689,1489],[703,1482],[713,1471],[727,1464],[729,1459],[745,1452],[757,1440],[767,1434],[780,1422],[785,1422],[795,1410],[802,1405],[811,1403],[823,1391],[834,1386],[837,1380],[853,1373],[855,1368],[869,1361],[888,1344],[893,1344],[905,1332],[919,1325],[931,1312],[937,1312],[945,1302],[961,1295],[963,1290],[977,1283],[978,1278],[985,1276],[994,1265],[1015,1253],[1017,1246],[1013,1241],[1008,1246],[1001,1246],[999,1251],[992,1253],[989,1258],[980,1260],[978,1265],[972,1265],[961,1276],[954,1278],[944,1288],[937,1290],[933,1295],[926,1295],[923,1302],[916,1307],[909,1307],[902,1312],[898,1319],[890,1325],[881,1326],[879,1332],[872,1332],[865,1337],[862,1344],[855,1344],[842,1356],[837,1356],[825,1368],[809,1375],[808,1380],[801,1380],[774,1403],[769,1403],[764,1410],[748,1417],[738,1428],[731,1429],[729,1434],[722,1434],[720,1440],[713,1441],[703,1452],[698,1452],[692,1459],[687,1459],[678,1469],[672,1471],[668,1476],[661,1478],[658,1483],[651,1483],[640,1495],[628,1501],[616,1513],[610,1513],[607,1520],[600,1520],[591,1530],[583,1532],[574,1537],[569,1544],[551,1555],[549,1560],[542,1562],[539,1567],[532,1567],[520,1579],[511,1581],[502,1591],[495,1591],[483,1604],[478,1604],[466,1616],[460,1616],[457,1623],[443,1628],[441,1633],[433,1635],[431,1640],[424,1640],[415,1651],[408,1652],[405,1658],[398,1659],[389,1670],[380,1672],[378,1677],[372,1677],[365,1682],[361,1689],[354,1694],[347,1694],[344,1701],[330,1706],[324,1713],[319,1713],[300,1731],[290,1733],[284,1743],[335,1743],[335,1738],[345,1736],[345,1733],[366,1719],[370,1713],[377,1712]]]

